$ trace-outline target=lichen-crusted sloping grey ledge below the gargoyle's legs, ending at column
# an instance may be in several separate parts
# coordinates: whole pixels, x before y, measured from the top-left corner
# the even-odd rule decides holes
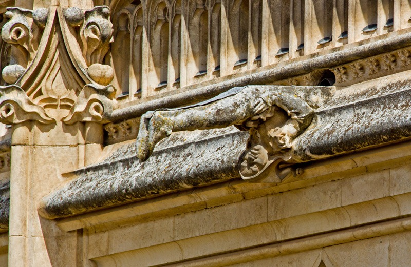
[[[104,161],[73,172],[78,178],[46,196],[40,212],[65,217],[237,178],[238,156],[247,138],[248,133],[233,127],[176,133],[160,142],[145,162],[129,143]]]

